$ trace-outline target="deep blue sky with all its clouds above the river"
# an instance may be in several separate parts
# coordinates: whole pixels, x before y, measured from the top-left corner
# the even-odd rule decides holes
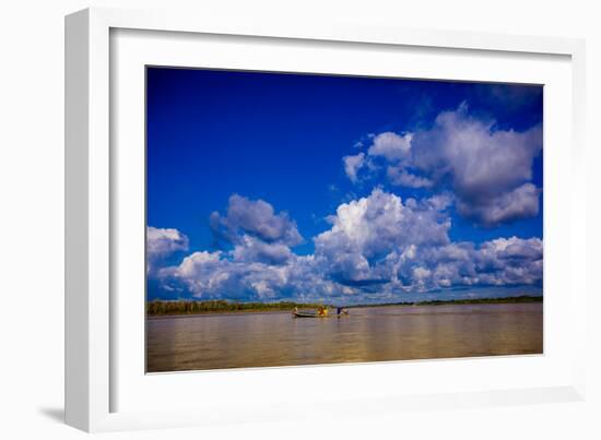
[[[146,81],[149,298],[542,290],[541,86],[168,68]]]

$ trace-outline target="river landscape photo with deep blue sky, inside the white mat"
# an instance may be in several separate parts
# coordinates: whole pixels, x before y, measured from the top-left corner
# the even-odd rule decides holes
[[[146,372],[543,353],[543,86],[146,67]]]

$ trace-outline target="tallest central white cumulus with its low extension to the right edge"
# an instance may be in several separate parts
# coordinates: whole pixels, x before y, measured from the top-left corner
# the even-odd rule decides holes
[[[499,238],[478,247],[451,242],[449,202],[437,195],[403,204],[376,189],[340,205],[332,228],[315,239],[323,273],[343,285],[397,293],[542,283],[540,239]]]

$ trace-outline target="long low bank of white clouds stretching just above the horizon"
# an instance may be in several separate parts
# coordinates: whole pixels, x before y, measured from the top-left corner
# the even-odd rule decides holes
[[[232,249],[193,252],[181,263],[158,271],[156,280],[166,290],[203,299],[341,304],[402,300],[401,294],[458,286],[542,285],[542,240],[510,237],[480,245],[452,242],[447,212],[451,202],[448,194],[403,201],[376,188],[365,198],[338,206],[329,217],[330,229],[314,238],[310,255],[291,251],[286,245],[290,233],[270,227],[268,241],[260,238],[268,237],[262,228],[240,221],[244,227],[234,228],[237,236]],[[257,207],[257,202],[245,199],[244,203]],[[288,226],[293,224],[262,203],[270,206],[260,204],[271,215],[252,217],[271,219],[267,223],[285,218]],[[229,210],[225,219],[220,217],[228,228],[234,218],[238,217],[231,216]]]

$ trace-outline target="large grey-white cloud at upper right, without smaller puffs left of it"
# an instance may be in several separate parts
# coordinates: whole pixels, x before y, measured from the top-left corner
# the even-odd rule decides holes
[[[499,130],[494,120],[471,117],[463,104],[415,134],[412,165],[435,179],[448,177],[460,213],[494,226],[538,214],[539,191],[531,180],[541,148],[540,126]]]

